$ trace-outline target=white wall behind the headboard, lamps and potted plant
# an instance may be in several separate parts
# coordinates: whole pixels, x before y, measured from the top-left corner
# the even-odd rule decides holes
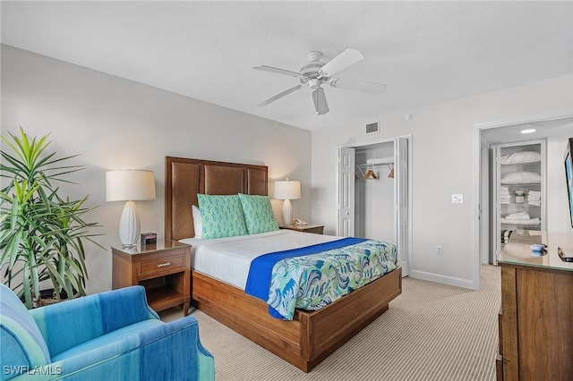
[[[51,132],[50,148],[59,157],[81,154],[86,165],[62,184],[72,198],[90,195],[99,205],[89,221],[104,247],[119,243],[124,203],[106,202],[105,173],[112,169],[155,172],[157,199],[139,201],[142,232],[164,233],[164,160],[194,157],[269,166],[272,181],[300,180],[302,199],[292,201],[293,216],[310,221],[311,133],[249,114],[214,106],[141,83],[70,63],[2,46],[2,134],[22,126],[30,136]],[[3,145],[3,149],[7,148]],[[282,201],[273,208],[280,220]],[[88,292],[111,288],[111,250],[88,245]]]

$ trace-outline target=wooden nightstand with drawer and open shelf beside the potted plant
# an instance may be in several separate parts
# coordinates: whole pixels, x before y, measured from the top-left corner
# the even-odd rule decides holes
[[[191,302],[191,246],[163,240],[133,249],[111,248],[112,288],[141,284],[152,309],[160,311]]]

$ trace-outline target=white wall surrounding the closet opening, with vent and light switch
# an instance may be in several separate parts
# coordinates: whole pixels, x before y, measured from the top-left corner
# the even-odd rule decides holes
[[[337,146],[352,146],[412,134],[413,247],[410,275],[472,287],[473,128],[476,123],[528,115],[573,113],[573,75],[391,114],[381,114],[381,132],[364,123],[312,131],[312,222],[336,232]],[[383,97],[391,97],[389,91]],[[405,114],[413,114],[411,120]],[[464,195],[452,204],[452,193]],[[434,253],[443,247],[443,255]]]

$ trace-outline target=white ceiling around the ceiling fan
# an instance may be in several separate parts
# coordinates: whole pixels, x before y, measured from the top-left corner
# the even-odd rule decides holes
[[[2,43],[308,130],[573,72],[573,2],[7,2]],[[312,50],[365,59],[316,115],[291,71]]]

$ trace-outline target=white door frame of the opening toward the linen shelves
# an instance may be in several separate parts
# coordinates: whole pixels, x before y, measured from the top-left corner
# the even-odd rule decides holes
[[[481,131],[482,130],[489,130],[492,128],[501,128],[507,127],[510,125],[515,124],[525,124],[525,123],[537,123],[537,122],[545,122],[545,121],[552,121],[558,119],[565,119],[573,117],[573,114],[570,112],[561,112],[555,114],[544,114],[544,115],[537,115],[537,116],[527,116],[527,117],[520,117],[510,120],[502,120],[502,121],[495,121],[495,122],[488,122],[488,123],[476,123],[474,124],[474,131],[472,131],[472,139],[474,141],[473,144],[473,189],[474,189],[474,197],[473,197],[473,206],[472,206],[472,260],[471,260],[471,267],[472,267],[472,284],[475,285],[475,290],[479,290],[480,288],[480,275],[481,275],[481,256],[480,256],[480,241],[481,241],[481,229],[480,229],[480,199],[481,199],[481,179],[480,179],[480,165],[482,162],[481,157],[481,147],[482,147],[482,139],[481,139]]]

